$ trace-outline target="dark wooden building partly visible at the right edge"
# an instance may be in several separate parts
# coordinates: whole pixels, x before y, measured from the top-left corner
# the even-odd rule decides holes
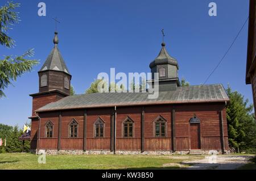
[[[246,63],[246,84],[251,84],[253,91],[254,112],[256,113],[256,2],[250,0],[249,27]]]

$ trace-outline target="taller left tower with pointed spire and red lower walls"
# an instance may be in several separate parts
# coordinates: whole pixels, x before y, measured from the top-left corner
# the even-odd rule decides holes
[[[48,103],[56,102],[70,95],[71,74],[67,65],[57,47],[59,39],[57,32],[53,39],[54,47],[44,62],[42,68],[38,71],[39,75],[39,92],[31,94],[32,96],[32,116],[31,119],[31,149],[35,150],[38,146],[38,124],[39,115],[35,110],[45,106]]]

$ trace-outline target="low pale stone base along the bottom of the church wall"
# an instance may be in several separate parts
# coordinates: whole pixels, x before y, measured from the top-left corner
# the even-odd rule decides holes
[[[109,150],[31,150],[31,153],[47,155],[89,155],[89,154],[114,154]],[[115,151],[118,155],[174,155],[174,154],[189,154],[190,151]],[[230,151],[225,150],[224,154],[229,154]],[[222,154],[221,150],[200,150],[200,154]]]

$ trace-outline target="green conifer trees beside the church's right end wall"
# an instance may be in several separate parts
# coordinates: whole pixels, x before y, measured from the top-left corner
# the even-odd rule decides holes
[[[226,108],[229,144],[238,152],[241,149],[256,148],[256,122],[253,105],[237,91],[228,86],[230,99]]]

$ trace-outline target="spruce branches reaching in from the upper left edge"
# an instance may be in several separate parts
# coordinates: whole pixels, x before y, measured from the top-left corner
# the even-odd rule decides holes
[[[7,35],[10,26],[19,22],[18,12],[14,11],[19,7],[19,3],[9,2],[0,8],[0,44],[11,48],[14,46],[14,40]],[[3,92],[11,81],[16,81],[17,77],[32,70],[32,67],[38,64],[37,60],[28,60],[27,57],[34,55],[34,49],[30,49],[22,56],[6,56],[0,60],[0,97],[5,96]]]

